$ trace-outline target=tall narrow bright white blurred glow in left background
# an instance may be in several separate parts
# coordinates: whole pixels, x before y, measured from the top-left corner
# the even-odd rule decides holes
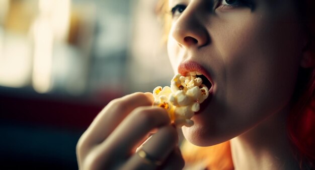
[[[53,85],[54,44],[66,40],[70,0],[40,0],[39,16],[33,25],[33,86],[39,93],[49,92]]]

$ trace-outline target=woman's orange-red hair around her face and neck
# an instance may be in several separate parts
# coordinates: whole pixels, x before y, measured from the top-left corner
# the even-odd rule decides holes
[[[315,32],[315,1],[297,0],[297,13],[305,28]],[[307,4],[307,5],[306,5]],[[164,25],[166,42],[171,27],[168,0],[160,0],[156,12]],[[306,48],[315,49],[315,35],[309,33]],[[306,49],[305,48],[305,49]],[[315,58],[315,52],[313,53]],[[315,59],[313,59],[315,60]],[[300,169],[315,169],[315,69],[300,68],[297,83],[292,96],[292,109],[287,117],[287,135],[292,151],[299,162]],[[188,142],[182,145],[183,157],[186,162],[207,161],[209,169],[234,169],[229,142],[209,147],[197,147]],[[214,156],[215,155],[215,156]]]

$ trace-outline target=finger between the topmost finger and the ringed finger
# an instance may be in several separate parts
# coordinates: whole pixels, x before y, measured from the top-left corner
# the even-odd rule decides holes
[[[126,117],[106,141],[100,144],[99,149],[104,151],[104,155],[117,152],[121,155],[130,155],[134,146],[145,138],[148,132],[170,123],[165,109],[152,106],[138,107]]]

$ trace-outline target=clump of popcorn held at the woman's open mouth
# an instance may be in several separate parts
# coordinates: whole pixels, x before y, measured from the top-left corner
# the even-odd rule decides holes
[[[194,122],[190,120],[208,96],[207,86],[202,84],[202,79],[190,72],[189,76],[175,75],[171,80],[171,87],[155,87],[153,90],[153,105],[161,106],[168,111],[169,117],[176,126],[191,127]]]

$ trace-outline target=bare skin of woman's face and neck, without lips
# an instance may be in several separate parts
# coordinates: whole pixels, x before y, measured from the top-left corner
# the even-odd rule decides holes
[[[285,119],[298,69],[305,62],[305,30],[294,1],[251,2],[253,8],[169,2],[170,8],[186,7],[173,16],[168,40],[175,72],[195,62],[213,81],[210,103],[183,133],[199,146],[233,138],[235,169],[298,169]]]

